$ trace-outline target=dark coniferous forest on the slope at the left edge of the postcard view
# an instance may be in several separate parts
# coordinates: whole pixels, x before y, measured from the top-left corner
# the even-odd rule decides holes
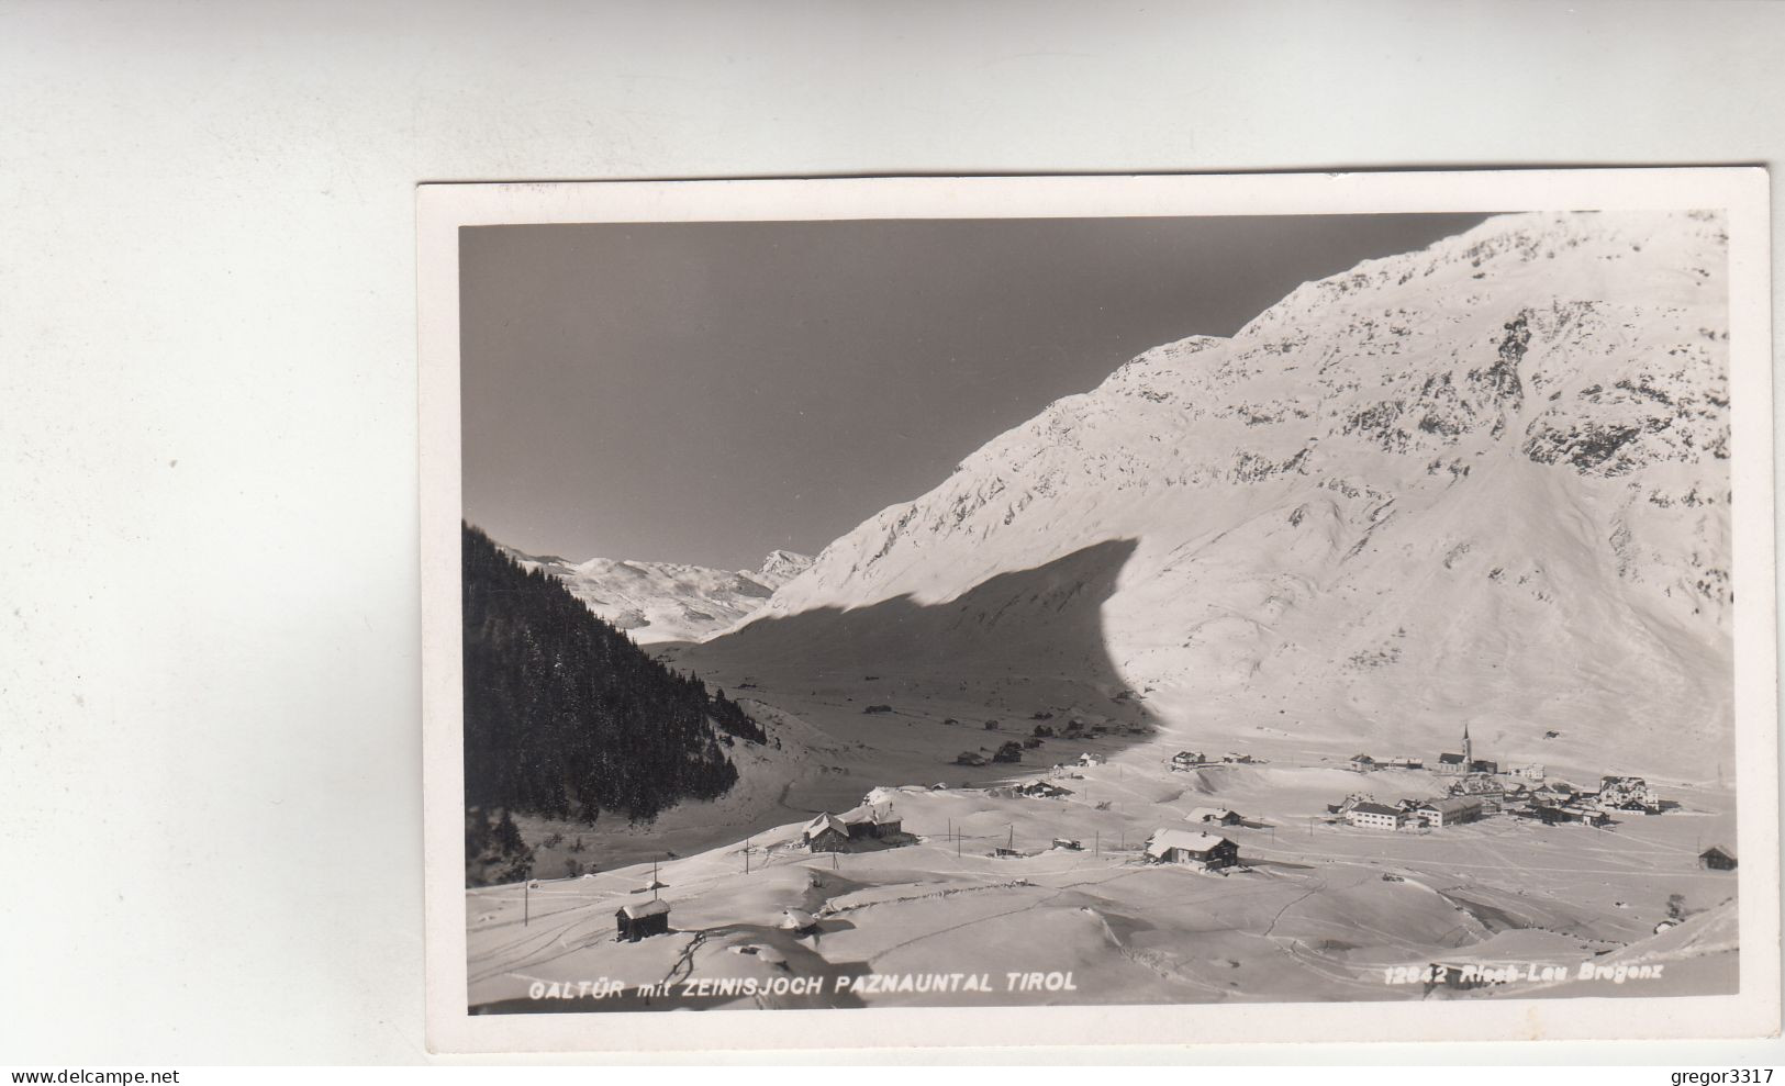
[[[496,810],[648,820],[737,781],[725,747],[766,738],[737,703],[652,660],[478,528],[462,537],[464,801],[478,829]]]

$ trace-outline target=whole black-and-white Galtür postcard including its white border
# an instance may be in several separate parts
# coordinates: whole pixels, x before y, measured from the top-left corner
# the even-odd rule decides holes
[[[1776,1031],[1765,200],[423,185],[430,1043]]]

